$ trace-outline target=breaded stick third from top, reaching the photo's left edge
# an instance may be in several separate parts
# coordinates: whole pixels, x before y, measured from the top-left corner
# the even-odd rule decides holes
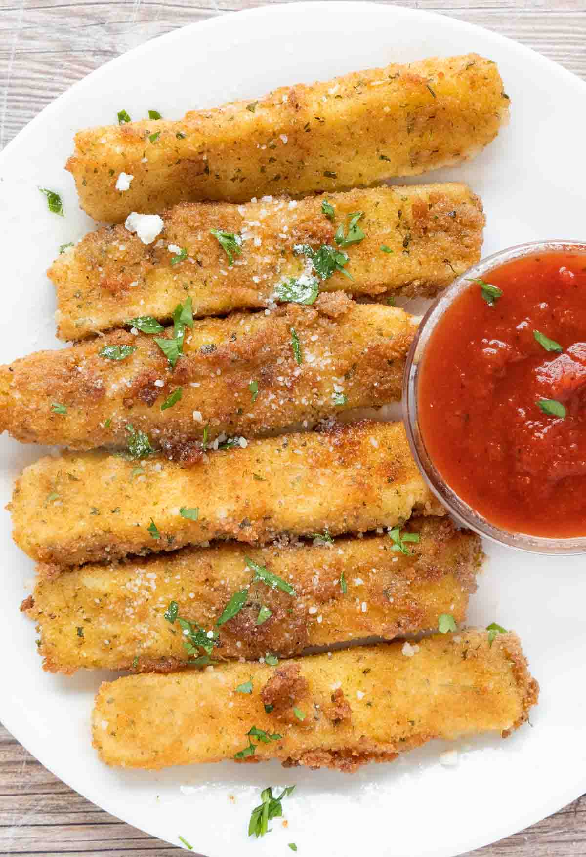
[[[213,441],[314,423],[400,399],[415,328],[402,309],[326,294],[313,307],[195,321],[174,370],[153,336],[116,331],[0,367],[0,430],[90,449],[126,446],[130,423],[173,454],[204,431]]]

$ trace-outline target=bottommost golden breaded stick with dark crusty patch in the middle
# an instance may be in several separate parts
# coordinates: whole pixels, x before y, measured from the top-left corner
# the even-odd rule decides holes
[[[105,682],[94,708],[94,747],[107,764],[127,768],[219,762],[252,745],[245,761],[277,758],[285,765],[355,770],[433,738],[505,737],[527,720],[539,691],[512,632],[498,634],[492,645],[486,632],[468,631],[427,638],[407,650],[390,643],[305,657],[287,662],[288,670],[293,664],[299,666],[294,695],[301,698],[294,704],[305,714],[302,721],[266,713],[263,688],[274,680],[273,668],[232,662],[199,673]],[[295,677],[282,678],[286,702]],[[238,692],[249,680],[252,692]],[[273,739],[263,743],[249,735],[254,727]]]

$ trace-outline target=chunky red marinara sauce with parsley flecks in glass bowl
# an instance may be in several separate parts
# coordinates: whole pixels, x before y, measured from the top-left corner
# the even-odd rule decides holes
[[[512,532],[586,535],[586,255],[471,282],[426,345],[417,399],[427,452],[469,506]]]

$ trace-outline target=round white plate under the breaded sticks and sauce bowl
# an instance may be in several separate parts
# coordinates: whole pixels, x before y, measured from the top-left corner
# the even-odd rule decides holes
[[[512,121],[479,158],[430,178],[468,181],[487,215],[485,254],[537,238],[584,238],[583,105],[576,77],[501,36],[427,12],[370,3],[302,3],[223,15],[119,57],[77,83],[21,131],[0,157],[3,302],[0,361],[57,345],[45,269],[60,243],[92,226],[77,208],[63,164],[76,129],[149,108],[181,117],[190,108],[255,98],[297,81],[433,54],[492,57],[511,97]],[[58,190],[66,217],[47,212],[37,186]],[[38,447],[0,440],[0,493],[9,500]],[[209,857],[289,854],[447,857],[507,836],[586,789],[584,560],[547,559],[487,546],[490,562],[470,621],[519,632],[541,700],[506,741],[478,740],[456,769],[433,745],[354,775],[232,763],[166,770],[111,770],[92,746],[89,715],[103,675],[43,673],[31,623],[18,613],[33,563],[10,539],[3,512],[0,555],[3,652],[0,716],[34,756],[89,800],[154,836],[184,836]],[[194,705],[194,717],[196,718]],[[462,748],[461,748],[462,749]],[[262,840],[246,825],[259,789],[297,783],[281,822]],[[190,789],[180,790],[180,786]],[[233,795],[235,800],[230,799]]]

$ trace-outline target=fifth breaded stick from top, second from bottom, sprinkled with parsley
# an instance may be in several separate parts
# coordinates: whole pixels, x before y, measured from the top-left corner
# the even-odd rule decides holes
[[[190,655],[177,623],[164,618],[169,604],[177,602],[182,619],[207,631],[231,596],[247,587],[245,606],[219,628],[215,658],[268,651],[290,657],[307,646],[392,639],[437,628],[443,613],[462,622],[483,557],[480,539],[455,530],[449,518],[416,518],[405,530],[420,534],[420,542],[408,543],[410,555],[394,550],[385,534],[267,548],[234,542],[184,548],[57,576],[53,566],[40,566],[23,608],[39,623],[45,669],[63,673],[177,668]],[[251,584],[246,558],[292,585],[296,595]],[[258,625],[262,606],[272,614]]]

